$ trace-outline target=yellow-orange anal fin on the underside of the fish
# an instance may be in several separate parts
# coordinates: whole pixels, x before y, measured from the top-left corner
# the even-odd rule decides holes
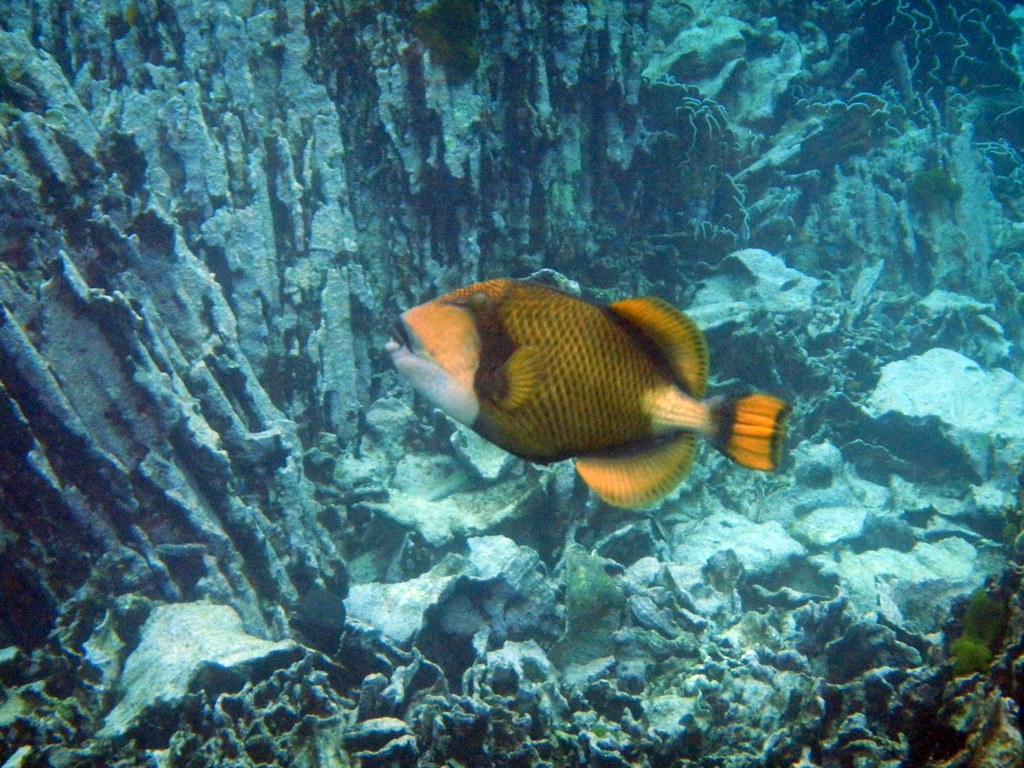
[[[601,499],[615,507],[645,507],[686,476],[696,453],[696,435],[680,432],[644,451],[577,459],[577,472]]]

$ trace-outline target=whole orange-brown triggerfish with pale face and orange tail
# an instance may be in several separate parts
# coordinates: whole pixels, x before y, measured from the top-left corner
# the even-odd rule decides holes
[[[671,493],[701,437],[743,467],[776,469],[792,411],[758,392],[706,398],[703,334],[656,297],[600,305],[489,280],[406,310],[385,349],[450,417],[527,461],[574,460],[615,507]]]

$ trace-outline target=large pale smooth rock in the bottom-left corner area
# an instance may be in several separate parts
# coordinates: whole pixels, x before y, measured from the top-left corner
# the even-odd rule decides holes
[[[138,646],[125,662],[120,698],[98,735],[122,736],[152,707],[174,707],[197,684],[202,686],[202,675],[208,668],[244,680],[256,668],[287,667],[301,654],[301,646],[291,640],[270,642],[247,634],[239,614],[228,605],[159,605],[145,621]]]

